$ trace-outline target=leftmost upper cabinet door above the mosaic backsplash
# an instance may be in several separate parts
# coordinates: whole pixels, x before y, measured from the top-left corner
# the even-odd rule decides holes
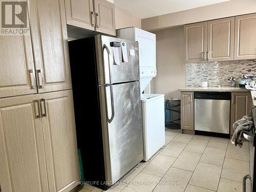
[[[206,61],[207,22],[184,26],[185,62]]]

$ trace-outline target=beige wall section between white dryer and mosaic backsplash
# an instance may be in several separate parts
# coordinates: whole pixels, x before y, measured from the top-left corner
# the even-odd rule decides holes
[[[151,92],[165,98],[180,98],[178,89],[185,88],[183,27],[156,31],[157,76],[152,80]]]

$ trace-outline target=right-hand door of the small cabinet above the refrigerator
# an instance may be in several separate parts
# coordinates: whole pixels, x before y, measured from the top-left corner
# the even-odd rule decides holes
[[[96,31],[116,35],[115,6],[106,0],[94,0]]]

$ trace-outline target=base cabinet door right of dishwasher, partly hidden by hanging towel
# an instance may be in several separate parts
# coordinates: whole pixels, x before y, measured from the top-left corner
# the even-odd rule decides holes
[[[250,115],[251,93],[233,92],[231,96],[230,135],[233,135],[233,123],[245,115]]]

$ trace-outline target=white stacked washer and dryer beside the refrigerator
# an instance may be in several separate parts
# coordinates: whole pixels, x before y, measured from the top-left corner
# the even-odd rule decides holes
[[[148,161],[165,144],[164,95],[143,93],[157,75],[156,35],[130,27],[117,30],[117,37],[139,42],[143,160]]]

